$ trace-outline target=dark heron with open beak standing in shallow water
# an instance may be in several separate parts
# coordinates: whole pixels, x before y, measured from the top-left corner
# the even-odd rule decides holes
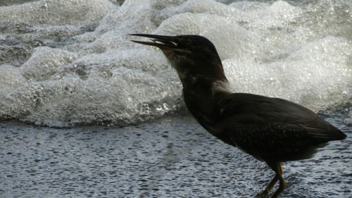
[[[241,149],[275,172],[266,197],[275,183],[284,190],[282,162],[310,159],[319,147],[346,135],[317,114],[284,99],[232,93],[214,45],[199,35],[133,34],[152,42],[134,41],[163,51],[182,82],[187,109],[215,137]]]

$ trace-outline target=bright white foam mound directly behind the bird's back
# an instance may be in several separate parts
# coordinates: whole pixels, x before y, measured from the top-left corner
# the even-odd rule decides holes
[[[278,61],[258,63],[231,58],[223,63],[237,92],[281,97],[318,110],[341,104],[351,92],[351,49],[346,39],[326,37]]]

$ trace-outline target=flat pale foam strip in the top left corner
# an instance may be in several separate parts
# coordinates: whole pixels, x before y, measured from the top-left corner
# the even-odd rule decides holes
[[[103,0],[34,1],[0,7],[1,23],[73,25],[98,20],[112,4]]]

